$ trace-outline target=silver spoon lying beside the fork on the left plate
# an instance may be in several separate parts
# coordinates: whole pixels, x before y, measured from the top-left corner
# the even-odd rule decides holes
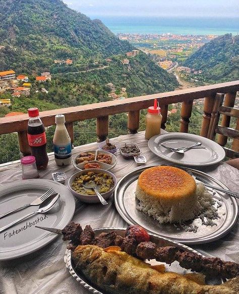
[[[21,222],[22,220],[28,218],[29,216],[33,215],[33,214],[37,214],[37,213],[45,213],[47,211],[49,211],[53,206],[54,204],[56,203],[56,201],[59,199],[60,195],[58,193],[54,193],[52,194],[51,196],[49,196],[45,201],[42,202],[42,204],[39,206],[39,209],[34,211],[34,212],[31,212],[31,213],[28,213],[27,215],[3,226],[2,228],[0,228],[0,233],[5,231],[7,228],[9,227],[12,227],[13,225]]]

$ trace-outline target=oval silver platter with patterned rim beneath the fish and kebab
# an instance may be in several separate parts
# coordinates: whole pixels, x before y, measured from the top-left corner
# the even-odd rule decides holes
[[[102,232],[110,232],[110,231],[115,231],[118,235],[124,237],[125,234],[125,228],[115,228],[115,227],[105,227],[105,228],[98,228],[98,229],[94,229],[96,236]],[[194,252],[196,254],[199,254],[201,256],[204,257],[212,257],[211,255],[202,255],[201,253],[199,253],[198,251],[171,241],[167,238],[162,238],[162,237],[158,237],[155,234],[150,234],[150,241],[154,242],[158,247],[165,247],[165,246],[177,246],[179,248],[183,248],[184,250],[187,250],[189,252]],[[93,284],[89,283],[89,281],[87,280],[87,278],[79,271],[77,271],[74,267],[74,264],[72,263],[72,258],[71,258],[71,250],[66,250],[65,253],[65,257],[64,257],[64,261],[66,263],[66,267],[67,269],[70,271],[70,274],[83,286],[85,287],[87,290],[89,290],[91,293],[94,294],[105,294],[104,292],[101,292],[100,289],[98,289],[97,287],[95,287]],[[162,263],[162,262],[157,262],[155,260],[150,260],[147,261],[148,263],[150,263],[151,265],[156,265],[156,264],[164,264],[166,267],[166,271],[171,271],[171,272],[177,272],[179,274],[187,274],[187,273],[191,273],[191,270],[186,270],[184,268],[182,268],[178,262],[173,262],[170,266],[168,264]],[[206,281],[207,284],[212,284],[212,285],[219,285],[221,284],[223,281],[221,279],[209,279]]]

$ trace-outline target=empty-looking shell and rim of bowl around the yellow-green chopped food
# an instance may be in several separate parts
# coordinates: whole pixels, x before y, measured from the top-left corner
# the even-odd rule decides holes
[[[95,173],[101,173],[101,172],[103,172],[103,173],[107,173],[107,174],[111,175],[111,177],[113,178],[113,181],[114,181],[113,188],[111,190],[109,190],[108,192],[101,194],[102,197],[105,200],[108,199],[113,194],[113,192],[114,192],[115,186],[117,184],[117,179],[116,179],[115,175],[112,172],[110,172],[108,170],[104,170],[104,169],[98,169],[98,168],[84,169],[84,170],[81,170],[81,171],[78,171],[78,172],[74,173],[71,176],[71,178],[70,178],[70,180],[68,182],[68,188],[70,189],[70,191],[72,192],[72,194],[76,198],[78,198],[81,201],[86,202],[86,203],[100,203],[99,198],[96,195],[95,196],[89,196],[89,195],[81,194],[81,193],[78,193],[78,192],[76,192],[76,191],[74,191],[72,189],[72,183],[75,181],[76,177],[78,177],[78,175],[81,175],[81,174],[86,174],[89,171],[93,171]]]

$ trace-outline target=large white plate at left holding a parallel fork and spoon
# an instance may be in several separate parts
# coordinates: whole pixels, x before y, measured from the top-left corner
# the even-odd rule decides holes
[[[18,258],[44,247],[57,238],[57,235],[36,228],[35,225],[64,228],[75,212],[75,198],[62,184],[50,180],[32,179],[1,187],[0,214],[31,203],[50,188],[53,188],[61,197],[47,214],[35,214],[0,233],[0,260]],[[0,219],[0,227],[37,209],[38,206],[30,206],[6,216]]]

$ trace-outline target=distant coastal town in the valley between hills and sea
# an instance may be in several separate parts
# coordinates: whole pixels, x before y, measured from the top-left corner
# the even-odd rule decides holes
[[[196,71],[180,66],[194,51],[217,37],[216,35],[177,35],[177,34],[118,34],[121,40],[128,40],[134,46],[149,54],[162,69],[175,72],[191,82],[198,82]]]

